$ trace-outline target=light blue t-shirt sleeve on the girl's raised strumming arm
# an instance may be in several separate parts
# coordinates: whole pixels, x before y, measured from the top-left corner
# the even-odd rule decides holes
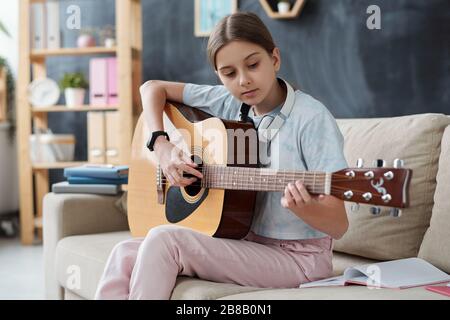
[[[187,83],[183,90],[183,103],[222,119],[235,119],[239,102],[221,85]]]

